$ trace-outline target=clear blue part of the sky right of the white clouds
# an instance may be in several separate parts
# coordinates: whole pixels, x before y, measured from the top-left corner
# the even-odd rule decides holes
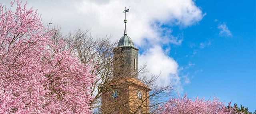
[[[196,0],[195,3],[207,14],[194,26],[174,27],[174,31],[183,33],[184,39],[181,45],[172,46],[170,53],[180,66],[193,64],[181,71],[190,77],[184,91],[190,97],[199,94],[206,99],[216,94],[222,101],[232,100],[253,112],[256,110],[255,1]],[[220,25],[226,25],[231,35],[222,34]],[[204,48],[202,45],[200,48],[200,43],[205,44]]]

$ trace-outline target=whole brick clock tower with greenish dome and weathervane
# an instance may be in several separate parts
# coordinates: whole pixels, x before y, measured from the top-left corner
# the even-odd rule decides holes
[[[125,10],[124,13],[128,12]],[[124,35],[114,49],[113,79],[102,93],[102,114],[148,114],[149,87],[138,80],[138,50],[127,35],[127,20],[124,20]]]

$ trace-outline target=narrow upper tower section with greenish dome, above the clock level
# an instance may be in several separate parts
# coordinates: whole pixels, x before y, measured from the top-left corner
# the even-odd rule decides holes
[[[127,20],[124,20],[124,36],[118,42],[114,49],[114,78],[116,77],[132,77],[138,79],[138,50],[127,35]],[[125,72],[124,72],[125,71]]]

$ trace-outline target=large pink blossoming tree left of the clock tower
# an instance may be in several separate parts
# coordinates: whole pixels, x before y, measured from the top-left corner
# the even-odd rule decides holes
[[[92,112],[92,65],[63,50],[62,39],[54,43],[54,30],[27,3],[10,4],[0,5],[0,114]]]

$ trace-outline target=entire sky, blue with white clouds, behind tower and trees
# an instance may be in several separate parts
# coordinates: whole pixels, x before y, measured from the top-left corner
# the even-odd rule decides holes
[[[0,0],[8,4],[9,0]],[[188,97],[242,104],[256,110],[255,0],[28,0],[45,26],[65,35],[91,29],[94,37],[124,32],[139,48],[139,65],[161,72],[158,82],[175,84]]]

